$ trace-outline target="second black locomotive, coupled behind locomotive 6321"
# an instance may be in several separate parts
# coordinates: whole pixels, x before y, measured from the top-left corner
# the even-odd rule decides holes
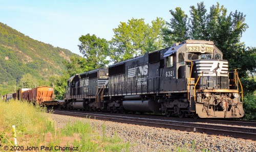
[[[66,109],[96,110],[104,108],[103,95],[108,92],[108,69],[102,68],[76,74],[68,80]]]

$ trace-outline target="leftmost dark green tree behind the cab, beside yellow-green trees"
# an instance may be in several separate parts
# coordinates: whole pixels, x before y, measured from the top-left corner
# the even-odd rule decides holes
[[[170,22],[166,22],[167,26],[163,29],[163,39],[167,46],[172,46],[175,42],[182,42],[188,39],[188,23],[187,15],[180,7],[175,8],[175,11],[170,10],[173,18]]]

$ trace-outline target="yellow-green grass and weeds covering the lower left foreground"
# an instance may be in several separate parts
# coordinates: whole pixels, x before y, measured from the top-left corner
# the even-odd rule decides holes
[[[75,121],[56,129],[43,107],[17,100],[0,100],[0,107],[0,150],[5,145],[14,145],[12,125],[15,125],[18,145],[24,148],[72,146],[78,147],[78,151],[129,151],[130,143],[123,142],[117,133],[114,137],[100,136],[88,121]]]

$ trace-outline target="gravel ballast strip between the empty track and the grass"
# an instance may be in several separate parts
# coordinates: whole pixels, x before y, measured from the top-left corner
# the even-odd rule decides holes
[[[67,122],[76,120],[89,121],[102,135],[105,123],[106,136],[114,136],[115,132],[124,141],[130,141],[131,151],[256,151],[256,141],[232,137],[208,135],[202,133],[177,131],[150,126],[102,121],[49,114],[57,128],[63,128]]]

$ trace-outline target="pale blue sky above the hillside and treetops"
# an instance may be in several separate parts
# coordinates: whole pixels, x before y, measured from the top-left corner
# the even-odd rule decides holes
[[[202,0],[201,0],[202,1]],[[95,34],[97,37],[111,40],[113,29],[120,22],[132,18],[144,18],[146,23],[162,17],[165,21],[172,17],[169,10],[176,7],[188,15],[190,6],[201,1],[195,0],[0,0],[0,22],[33,38],[55,47],[71,50],[81,55],[78,49],[81,35]],[[246,46],[255,46],[256,1],[225,0],[204,1],[206,9],[212,5],[224,5],[229,12],[243,12],[249,28],[242,35]]]

